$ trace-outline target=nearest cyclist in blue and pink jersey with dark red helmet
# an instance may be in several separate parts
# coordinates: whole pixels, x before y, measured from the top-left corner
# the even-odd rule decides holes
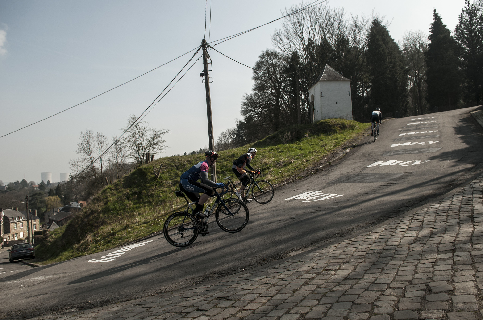
[[[213,187],[224,186],[224,183],[216,183],[208,178],[208,169],[218,159],[218,154],[212,150],[205,152],[206,159],[198,162],[181,175],[180,189],[185,192],[189,200],[195,202],[196,208],[193,212],[199,218],[206,218],[203,206],[213,194]],[[201,182],[198,180],[201,178]],[[199,193],[203,193],[201,197]]]

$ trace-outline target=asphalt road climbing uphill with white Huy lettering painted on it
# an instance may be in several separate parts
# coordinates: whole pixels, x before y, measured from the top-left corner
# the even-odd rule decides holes
[[[250,221],[239,233],[223,232],[213,217],[210,234],[187,248],[157,236],[130,250],[35,268],[9,264],[0,253],[2,300],[15,302],[2,303],[0,315],[19,319],[170,292],[394,217],[479,168],[483,129],[470,109],[385,121],[375,143],[369,135],[345,160],[277,188],[270,203],[252,201]],[[294,198],[306,192],[312,194]]]

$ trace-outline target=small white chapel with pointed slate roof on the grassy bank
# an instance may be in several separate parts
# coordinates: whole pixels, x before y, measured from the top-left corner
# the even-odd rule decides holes
[[[351,80],[342,77],[329,65],[309,89],[309,96],[312,121],[329,118],[352,120]]]

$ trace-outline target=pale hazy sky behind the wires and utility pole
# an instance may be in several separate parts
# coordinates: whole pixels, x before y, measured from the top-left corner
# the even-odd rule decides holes
[[[294,0],[212,0],[211,40],[280,17]],[[210,0],[208,0],[209,11]],[[399,41],[406,31],[428,32],[436,8],[454,30],[464,0],[331,0],[355,15],[378,13]],[[254,66],[273,48],[279,20],[217,46]],[[23,1],[0,0],[0,135],[76,105],[199,46],[205,1]],[[208,38],[208,30],[206,31]],[[252,70],[210,51],[213,130],[241,119],[240,103],[252,86]],[[189,55],[191,56],[191,54]],[[129,114],[139,116],[187,62],[186,55],[140,79],[56,117],[0,138],[0,180],[40,182],[41,172],[69,173],[81,131],[109,137],[122,133]],[[197,56],[198,57],[198,56]],[[202,60],[144,120],[169,129],[166,155],[208,145]],[[162,155],[157,155],[156,158]]]

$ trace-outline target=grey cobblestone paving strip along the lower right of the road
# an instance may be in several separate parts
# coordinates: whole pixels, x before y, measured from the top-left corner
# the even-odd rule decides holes
[[[482,319],[482,186],[483,174],[424,210],[275,266],[57,319]]]

